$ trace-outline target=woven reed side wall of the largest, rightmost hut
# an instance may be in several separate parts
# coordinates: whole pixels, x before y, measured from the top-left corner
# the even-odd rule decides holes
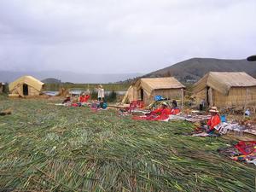
[[[248,91],[247,91],[248,90]],[[247,106],[256,106],[256,87],[231,88],[229,95],[224,96],[220,92],[212,91],[213,105],[218,108],[236,107],[242,108],[247,102]]]

